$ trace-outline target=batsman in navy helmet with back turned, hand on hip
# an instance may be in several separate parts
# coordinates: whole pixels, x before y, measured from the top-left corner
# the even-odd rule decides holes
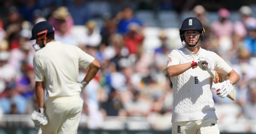
[[[30,40],[36,39],[33,66],[39,109],[31,119],[43,134],[76,134],[83,107],[80,92],[96,75],[100,63],[77,46],[55,41],[54,31],[47,21],[32,29]],[[79,66],[89,67],[81,83],[77,82]]]

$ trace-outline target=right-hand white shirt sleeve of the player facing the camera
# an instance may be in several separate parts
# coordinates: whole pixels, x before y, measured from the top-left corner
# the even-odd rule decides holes
[[[217,73],[220,74],[224,74],[227,75],[231,70],[232,67],[230,67],[228,65],[228,63],[226,63],[219,55],[217,55],[216,53],[214,53],[214,57],[215,57],[215,67],[214,70]]]

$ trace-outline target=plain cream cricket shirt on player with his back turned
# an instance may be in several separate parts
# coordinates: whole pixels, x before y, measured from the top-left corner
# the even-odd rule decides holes
[[[35,53],[33,59],[35,81],[44,81],[47,97],[78,95],[79,66],[87,68],[94,58],[79,47],[49,42]]]

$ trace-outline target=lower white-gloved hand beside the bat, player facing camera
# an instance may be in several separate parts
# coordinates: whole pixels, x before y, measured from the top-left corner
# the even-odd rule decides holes
[[[223,81],[221,83],[216,83],[212,86],[212,89],[216,91],[216,94],[220,98],[226,97],[234,89],[232,82],[229,80]]]

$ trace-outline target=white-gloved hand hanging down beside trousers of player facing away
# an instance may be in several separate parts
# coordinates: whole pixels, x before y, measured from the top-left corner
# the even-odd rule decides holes
[[[48,123],[48,118],[44,113],[39,113],[34,111],[31,115],[32,121],[35,123],[35,127],[38,130],[40,125],[46,125]]]

